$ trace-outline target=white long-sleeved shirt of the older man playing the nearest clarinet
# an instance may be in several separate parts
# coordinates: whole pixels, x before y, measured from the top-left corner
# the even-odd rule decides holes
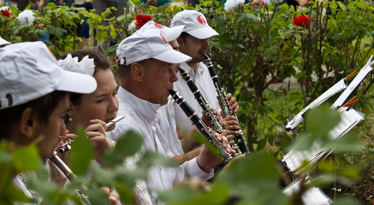
[[[111,140],[117,140],[130,130],[138,131],[143,136],[143,144],[139,151],[141,157],[145,151],[152,150],[165,155],[163,147],[156,134],[157,115],[159,104],[153,104],[142,100],[122,87],[118,89],[119,110],[125,118],[116,123],[116,128],[108,133]],[[178,168],[163,167],[160,165],[151,166],[148,169],[146,180],[147,189],[153,204],[163,204],[159,201],[157,191],[169,190],[173,187],[173,181],[181,181],[186,175],[202,177],[208,180],[214,176],[213,169],[205,173],[197,165],[196,158],[183,163]]]

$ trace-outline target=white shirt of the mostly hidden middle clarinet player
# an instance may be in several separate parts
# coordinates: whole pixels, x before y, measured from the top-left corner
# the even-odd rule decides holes
[[[169,100],[171,100],[171,96],[169,96]],[[174,102],[174,100],[172,101]],[[169,158],[184,154],[175,130],[174,107],[171,106],[172,104],[166,104],[159,108],[157,111],[157,117],[159,118],[157,120],[157,126],[159,128],[156,128],[156,135],[159,137],[163,150]],[[172,108],[172,110],[170,108]]]

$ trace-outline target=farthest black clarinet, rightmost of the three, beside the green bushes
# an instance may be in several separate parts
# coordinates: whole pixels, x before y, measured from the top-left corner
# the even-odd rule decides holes
[[[226,92],[221,86],[221,83],[220,83],[220,80],[218,79],[217,73],[214,70],[212,61],[210,60],[210,58],[205,53],[204,53],[204,58],[205,58],[205,64],[208,66],[209,74],[212,77],[215,90],[217,91],[218,100],[221,102],[226,116],[234,116],[236,118],[236,121],[239,122],[239,120],[236,117],[236,114],[232,110],[229,109],[229,106],[227,106],[227,100],[225,99],[226,98]],[[241,131],[241,130],[238,130],[238,131],[243,133],[243,131]],[[236,141],[238,143],[240,151],[242,151],[244,154],[247,154],[247,153],[249,154],[247,144],[245,143],[244,135],[243,134],[236,135],[235,138],[236,138]]]

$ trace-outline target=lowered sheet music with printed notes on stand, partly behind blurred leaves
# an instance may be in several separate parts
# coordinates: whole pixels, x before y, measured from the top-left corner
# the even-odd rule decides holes
[[[349,107],[341,108],[339,112],[341,113],[341,120],[338,125],[329,131],[328,138],[330,140],[335,140],[344,136],[359,122],[364,120],[362,113],[360,114],[358,111]],[[313,142],[309,150],[295,150],[292,148],[283,157],[283,162],[287,164],[292,172],[298,170],[298,172],[295,173],[298,174],[301,171],[300,167],[303,165],[304,161],[309,162],[309,165],[314,165],[327,151],[325,147],[322,147],[322,141],[317,139]]]

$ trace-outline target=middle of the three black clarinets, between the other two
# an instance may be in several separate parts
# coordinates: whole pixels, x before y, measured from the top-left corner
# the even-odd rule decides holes
[[[222,133],[224,131],[224,129],[222,128],[223,125],[221,125],[218,122],[217,118],[215,117],[215,114],[213,114],[212,106],[210,105],[210,103],[206,102],[205,98],[202,96],[196,84],[192,81],[188,73],[180,67],[178,67],[178,69],[180,70],[183,79],[186,81],[188,88],[190,88],[192,94],[196,98],[197,102],[200,104],[200,107],[203,109],[205,115],[211,121],[212,125],[214,126],[214,129],[216,129],[218,133]]]

